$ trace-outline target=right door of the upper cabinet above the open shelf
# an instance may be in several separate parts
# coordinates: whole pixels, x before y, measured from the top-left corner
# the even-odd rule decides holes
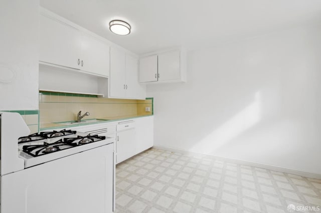
[[[109,76],[109,45],[97,38],[82,34],[81,70]]]

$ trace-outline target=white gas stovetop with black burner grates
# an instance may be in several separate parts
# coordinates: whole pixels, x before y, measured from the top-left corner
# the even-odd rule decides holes
[[[20,158],[25,167],[61,158],[113,142],[114,138],[66,130],[43,131],[18,139]]]

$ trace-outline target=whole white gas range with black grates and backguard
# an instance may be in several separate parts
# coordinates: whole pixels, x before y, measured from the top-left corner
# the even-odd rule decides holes
[[[114,138],[73,130],[28,135],[12,112],[0,112],[0,128],[2,213],[113,211]]]

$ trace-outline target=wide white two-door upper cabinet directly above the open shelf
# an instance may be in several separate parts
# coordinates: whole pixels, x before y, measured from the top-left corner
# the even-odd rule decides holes
[[[40,61],[108,77],[109,45],[49,15],[39,21]]]

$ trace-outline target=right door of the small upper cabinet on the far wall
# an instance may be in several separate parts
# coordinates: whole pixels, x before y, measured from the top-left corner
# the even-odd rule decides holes
[[[180,51],[158,54],[158,81],[180,79]]]

